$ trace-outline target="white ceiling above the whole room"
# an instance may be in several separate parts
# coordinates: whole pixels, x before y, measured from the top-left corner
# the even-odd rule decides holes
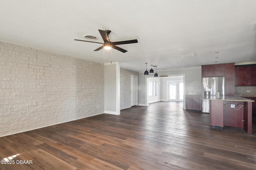
[[[117,45],[126,53],[112,49],[112,61],[137,72],[145,63],[148,70],[256,63],[256,0],[2,0],[0,24],[0,40],[97,63],[101,45],[74,39],[92,34],[103,43],[98,29],[111,30],[113,42],[138,39]],[[180,56],[188,53],[196,56]]]

